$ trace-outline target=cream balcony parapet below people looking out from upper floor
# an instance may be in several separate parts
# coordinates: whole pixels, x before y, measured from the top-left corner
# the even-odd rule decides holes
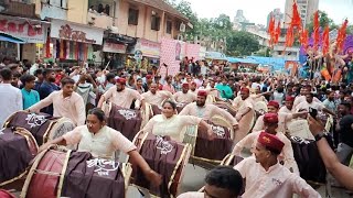
[[[87,14],[87,24],[99,28],[99,29],[110,29],[115,24],[117,24],[118,21],[115,18],[111,18],[105,13],[97,13],[95,11],[88,11]]]

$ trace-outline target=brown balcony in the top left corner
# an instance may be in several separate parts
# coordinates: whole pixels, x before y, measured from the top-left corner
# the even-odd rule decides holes
[[[35,4],[17,1],[6,2],[4,10],[1,13],[22,18],[35,18]]]

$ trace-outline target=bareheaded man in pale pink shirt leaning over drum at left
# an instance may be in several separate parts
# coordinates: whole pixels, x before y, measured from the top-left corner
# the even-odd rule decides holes
[[[63,78],[62,90],[50,94],[46,98],[28,109],[29,112],[40,112],[53,103],[54,117],[71,119],[76,125],[84,125],[86,118],[84,99],[74,91],[75,80]]]

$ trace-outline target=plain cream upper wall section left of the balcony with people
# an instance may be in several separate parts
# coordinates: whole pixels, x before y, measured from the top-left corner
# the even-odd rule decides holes
[[[88,0],[67,0],[67,21],[87,24]]]

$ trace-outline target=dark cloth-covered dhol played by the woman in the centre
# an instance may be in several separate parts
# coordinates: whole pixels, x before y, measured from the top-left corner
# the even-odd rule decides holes
[[[180,194],[180,184],[188,164],[191,145],[170,141],[151,133],[139,132],[135,140],[138,152],[149,166],[162,175],[160,187],[152,187],[140,168],[133,168],[131,184],[149,190],[153,196],[169,198]]]

